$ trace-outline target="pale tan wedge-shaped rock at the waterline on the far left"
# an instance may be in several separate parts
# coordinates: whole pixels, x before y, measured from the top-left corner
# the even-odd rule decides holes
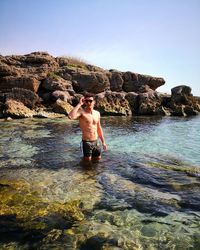
[[[35,111],[32,111],[21,102],[8,99],[5,103],[5,111],[4,111],[5,116],[28,118],[28,117],[33,117],[34,114]]]

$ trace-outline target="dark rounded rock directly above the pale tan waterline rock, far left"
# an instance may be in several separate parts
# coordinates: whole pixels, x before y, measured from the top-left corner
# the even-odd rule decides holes
[[[40,103],[40,98],[36,93],[23,88],[12,88],[11,92],[5,94],[5,97],[21,102],[29,108],[34,108]]]

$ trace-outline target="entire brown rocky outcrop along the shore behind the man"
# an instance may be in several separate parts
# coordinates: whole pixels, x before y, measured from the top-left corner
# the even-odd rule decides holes
[[[156,90],[164,84],[161,77],[104,70],[46,52],[0,55],[0,118],[63,117],[85,91],[95,94],[102,115],[199,114],[200,98],[189,86],[176,86],[169,95]]]

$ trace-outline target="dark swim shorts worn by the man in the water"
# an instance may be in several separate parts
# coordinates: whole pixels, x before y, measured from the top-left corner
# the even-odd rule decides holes
[[[96,141],[82,141],[83,143],[83,155],[85,157],[98,157],[101,155],[101,149],[97,145]]]

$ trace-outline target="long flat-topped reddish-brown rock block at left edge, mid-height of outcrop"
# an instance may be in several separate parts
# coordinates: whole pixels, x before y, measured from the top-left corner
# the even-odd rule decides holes
[[[35,77],[23,76],[5,76],[0,78],[0,89],[11,90],[12,88],[24,88],[37,92],[40,82]]]

